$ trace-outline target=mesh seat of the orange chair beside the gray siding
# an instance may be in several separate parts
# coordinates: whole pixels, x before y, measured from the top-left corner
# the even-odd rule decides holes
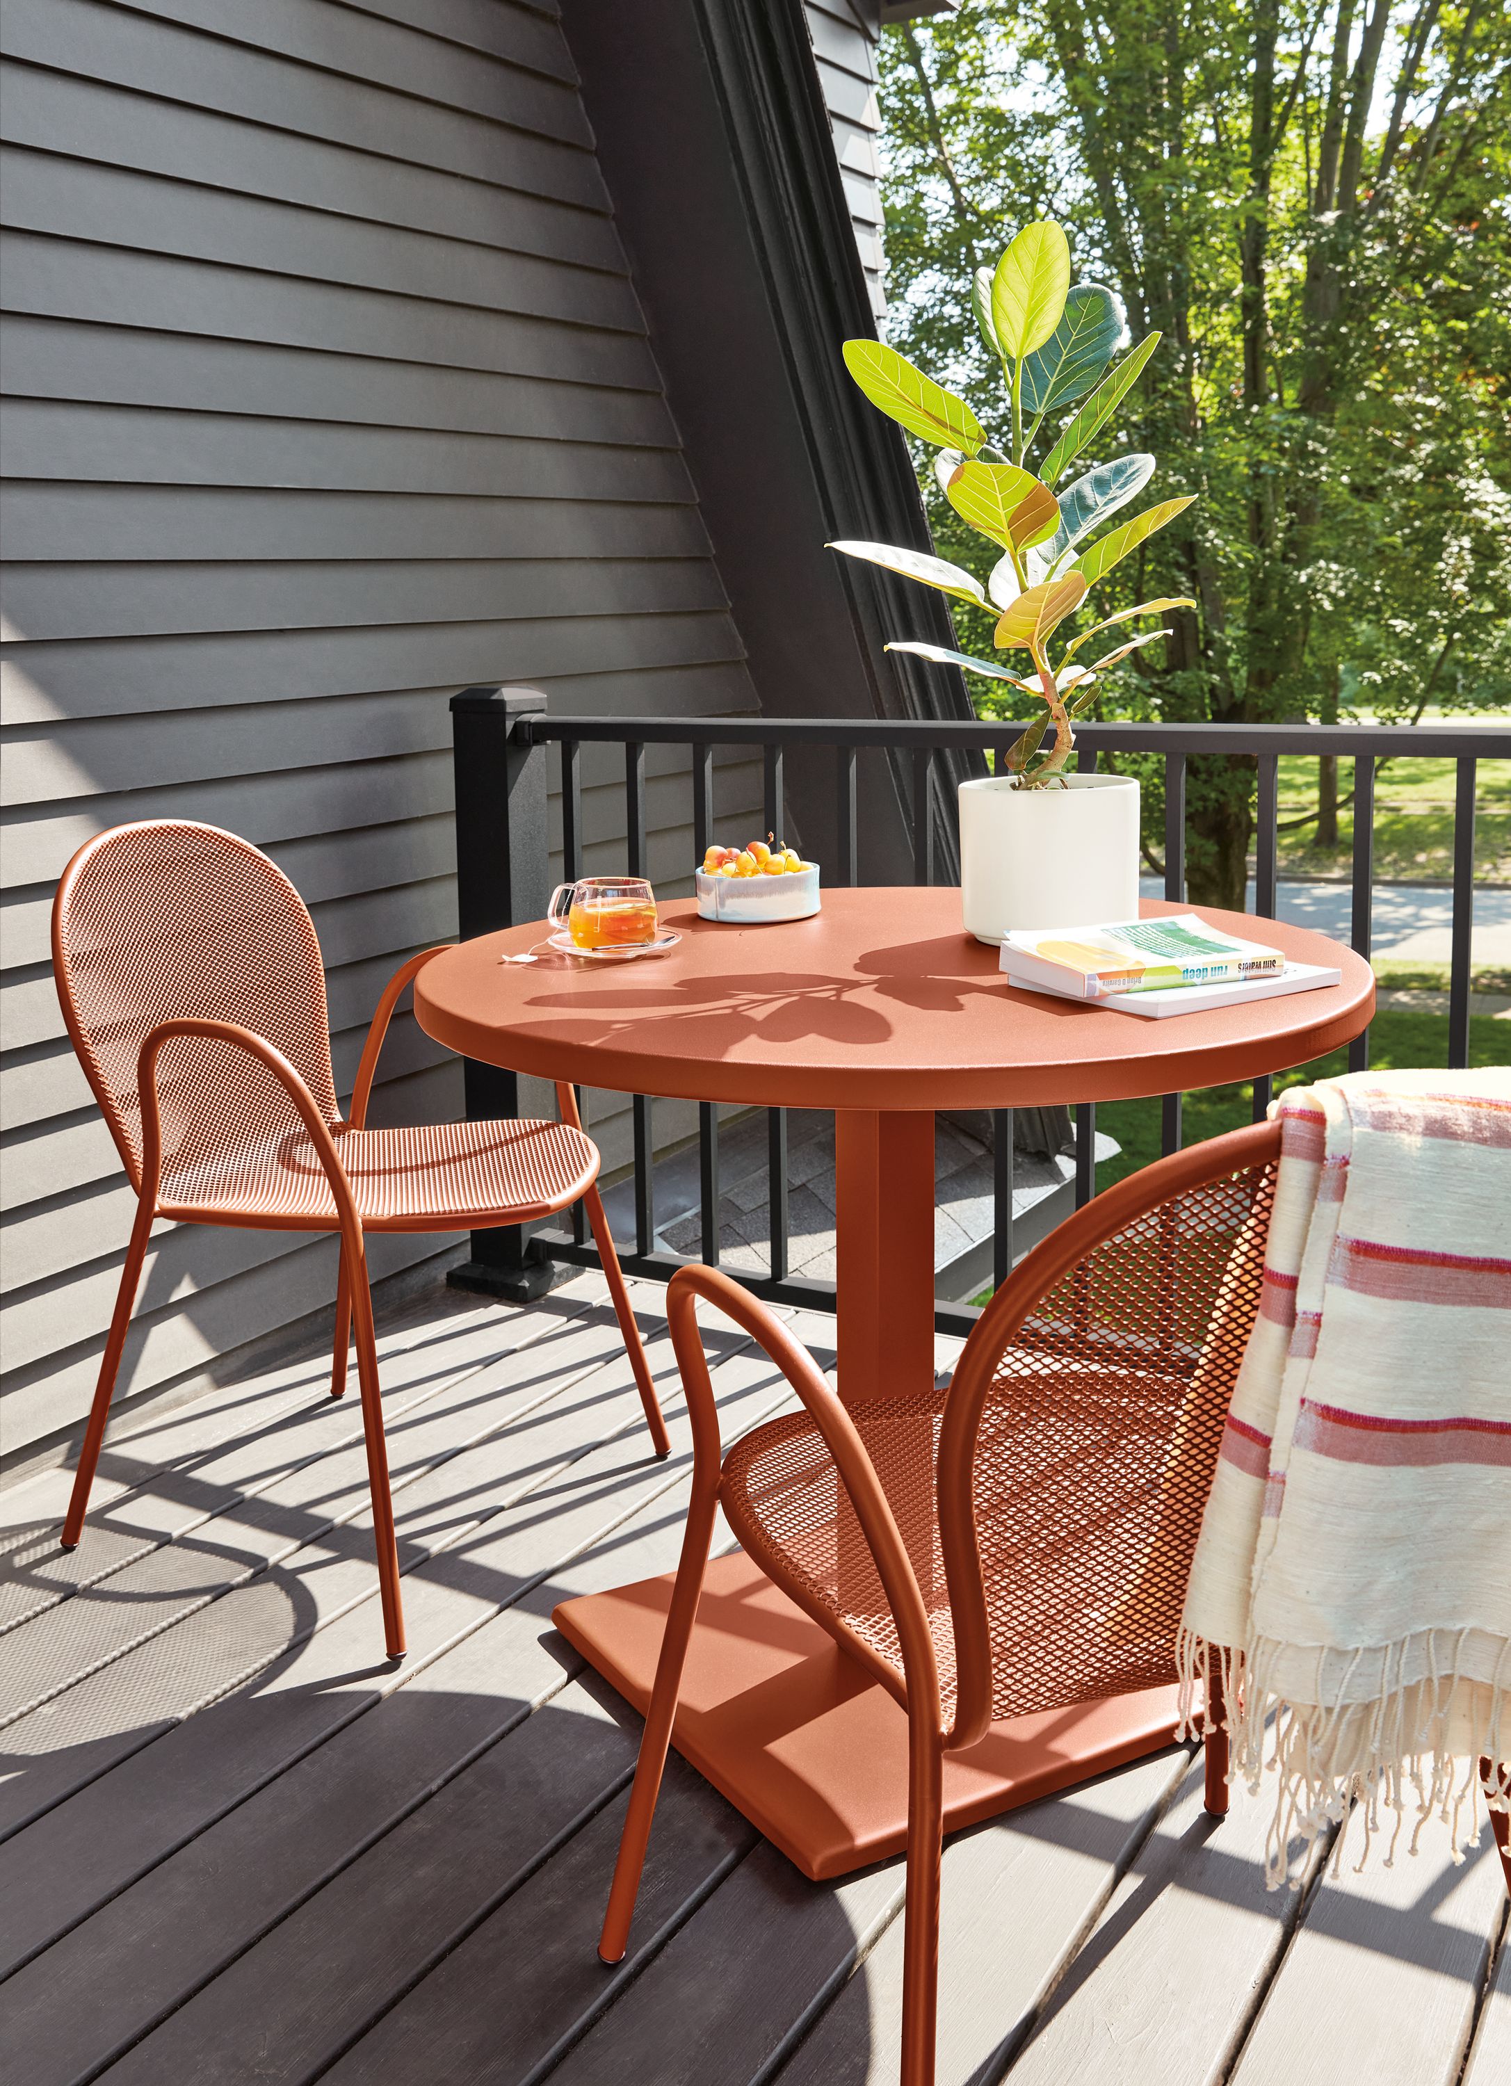
[[[599,1168],[597,1149],[563,1122],[438,1122],[332,1135],[369,1231],[428,1222],[461,1231],[467,1218],[499,1210],[563,1210]],[[167,1216],[336,1227],[336,1199],[303,1129],[165,1172],[161,1204]]]

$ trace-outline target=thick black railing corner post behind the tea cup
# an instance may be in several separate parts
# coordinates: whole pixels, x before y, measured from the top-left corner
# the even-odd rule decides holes
[[[530,741],[545,713],[536,688],[463,688],[451,697],[457,772],[457,930],[463,941],[541,920],[551,895],[547,753]],[[520,1078],[465,1060],[470,1122],[520,1114]],[[455,1289],[528,1304],[551,1287],[551,1260],[522,1224],[472,1233],[472,1258],[451,1268]]]

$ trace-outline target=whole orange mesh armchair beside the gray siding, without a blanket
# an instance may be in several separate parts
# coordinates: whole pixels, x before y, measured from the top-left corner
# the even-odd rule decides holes
[[[363,1126],[399,995],[438,953],[411,955],[384,987],[342,1120],[315,922],[267,855],[186,820],[117,826],[79,849],[52,905],[63,1018],[138,1193],[63,1548],[73,1550],[83,1529],[152,1220],[336,1231],[330,1389],[332,1398],[346,1389],[355,1335],[384,1638],[394,1658],[405,1629],[367,1231],[486,1231],[586,1202],[655,1454],[670,1452],[595,1185],[599,1151],[582,1133],[572,1087],[557,1085],[561,1122]]]

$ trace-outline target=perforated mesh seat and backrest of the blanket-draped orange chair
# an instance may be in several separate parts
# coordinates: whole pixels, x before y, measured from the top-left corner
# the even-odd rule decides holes
[[[1014,1717],[1175,1679],[1192,1550],[1258,1308],[1273,1170],[1188,1189],[1096,1245],[1004,1350],[973,1494],[991,1713]],[[854,1404],[929,1608],[945,1717],[956,1663],[937,1539],[943,1393]],[[806,1416],[724,1466],[741,1544],[810,1612],[897,1671],[881,1583]]]

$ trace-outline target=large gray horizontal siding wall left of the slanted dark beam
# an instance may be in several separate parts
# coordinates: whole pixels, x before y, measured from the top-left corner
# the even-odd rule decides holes
[[[455,935],[455,688],[626,715],[756,697],[553,8],[8,0],[0,96],[17,1454],[88,1408],[131,1214],[48,966],[73,849],[157,816],[267,847],[311,903],[349,1085],[384,978]],[[589,868],[622,866],[618,772],[584,757]],[[651,874],[687,889],[685,755],[647,776]],[[728,820],[758,803],[730,761]],[[403,1016],[374,1120],[459,1108]],[[626,1114],[593,1108],[609,1166]],[[374,1272],[449,1243],[374,1241]],[[121,1396],[332,1293],[330,1241],[161,1227]]]

